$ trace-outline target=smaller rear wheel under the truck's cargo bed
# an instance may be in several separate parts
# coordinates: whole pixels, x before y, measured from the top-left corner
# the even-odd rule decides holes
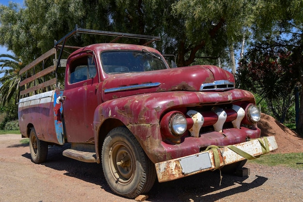
[[[39,140],[34,128],[30,130],[30,156],[34,163],[43,163],[47,158],[48,144]]]

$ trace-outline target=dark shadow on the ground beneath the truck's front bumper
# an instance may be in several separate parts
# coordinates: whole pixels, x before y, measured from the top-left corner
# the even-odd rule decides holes
[[[151,202],[213,202],[233,194],[242,193],[263,185],[268,178],[257,178],[244,183],[248,177],[222,174],[220,185],[219,172],[205,172],[188,176],[179,180],[155,183],[149,193]],[[236,184],[241,186],[234,187]]]

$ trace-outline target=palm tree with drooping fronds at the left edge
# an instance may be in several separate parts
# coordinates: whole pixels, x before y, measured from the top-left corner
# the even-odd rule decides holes
[[[0,105],[4,106],[12,99],[18,102],[20,94],[19,83],[21,81],[19,71],[24,65],[20,58],[9,54],[2,54],[0,55],[0,66],[0,74],[4,73],[4,76],[0,78]]]

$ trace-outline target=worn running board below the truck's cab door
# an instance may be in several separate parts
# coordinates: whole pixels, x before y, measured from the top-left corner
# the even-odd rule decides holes
[[[96,163],[96,152],[79,151],[76,149],[66,149],[62,152],[62,155],[71,159],[87,163]]]

